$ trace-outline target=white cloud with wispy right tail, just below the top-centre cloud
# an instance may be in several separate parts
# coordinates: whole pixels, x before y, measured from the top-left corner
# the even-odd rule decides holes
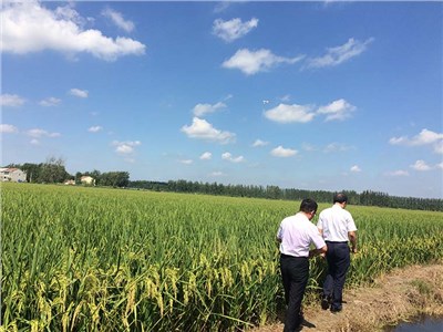
[[[296,63],[305,55],[296,58],[282,58],[275,55],[269,50],[249,51],[247,49],[238,50],[229,60],[222,65],[227,69],[238,69],[247,75],[254,75],[264,72],[280,63]]]

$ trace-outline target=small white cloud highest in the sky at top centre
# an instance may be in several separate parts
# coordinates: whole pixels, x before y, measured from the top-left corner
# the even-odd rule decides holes
[[[246,22],[241,22],[241,19],[231,19],[229,21],[217,19],[214,21],[213,33],[226,42],[231,42],[246,35],[257,25],[258,20],[256,18]]]

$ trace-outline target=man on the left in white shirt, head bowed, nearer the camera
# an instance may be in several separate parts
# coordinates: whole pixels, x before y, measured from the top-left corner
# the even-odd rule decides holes
[[[303,199],[300,211],[285,218],[277,232],[280,242],[280,270],[288,305],[284,332],[296,331],[302,323],[301,301],[309,278],[309,258],[327,251],[327,246],[317,227],[310,221],[318,205]],[[316,249],[310,250],[313,243]]]

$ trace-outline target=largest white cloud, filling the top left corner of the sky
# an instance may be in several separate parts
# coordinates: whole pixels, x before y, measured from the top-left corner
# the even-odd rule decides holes
[[[84,30],[81,22],[85,20],[69,7],[50,10],[32,0],[7,2],[1,18],[2,52],[25,54],[53,50],[71,55],[85,52],[106,61],[145,53],[145,45],[136,40],[112,39],[99,30]]]

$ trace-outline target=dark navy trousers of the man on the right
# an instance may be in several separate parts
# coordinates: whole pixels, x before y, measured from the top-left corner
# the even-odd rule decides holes
[[[326,241],[326,243],[328,246],[326,252],[328,276],[323,284],[323,295],[331,298],[332,310],[341,310],[346,274],[351,264],[349,247],[348,242]]]

